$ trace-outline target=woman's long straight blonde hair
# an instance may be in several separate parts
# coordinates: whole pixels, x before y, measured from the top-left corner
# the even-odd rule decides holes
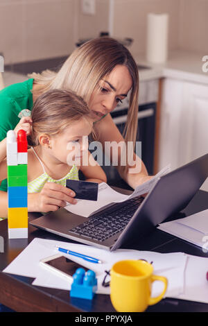
[[[126,142],[133,141],[135,145],[139,74],[130,51],[116,40],[111,37],[98,37],[90,40],[73,51],[57,73],[47,70],[42,74],[29,76],[34,78],[35,83],[42,85],[39,91],[41,93],[49,89],[71,89],[89,104],[99,80],[110,74],[116,65],[125,65],[132,78],[128,118],[123,137]]]

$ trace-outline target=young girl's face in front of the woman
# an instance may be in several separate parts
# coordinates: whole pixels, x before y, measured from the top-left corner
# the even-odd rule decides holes
[[[92,121],[80,119],[50,139],[50,151],[57,162],[80,165],[83,155],[88,153],[88,135],[92,132]]]

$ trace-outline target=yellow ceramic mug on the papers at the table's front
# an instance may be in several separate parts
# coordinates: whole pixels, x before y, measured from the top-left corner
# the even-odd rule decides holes
[[[144,260],[122,260],[116,262],[110,271],[110,299],[119,312],[142,312],[148,305],[162,300],[166,293],[166,277],[153,275],[153,265]],[[164,282],[164,290],[151,297],[154,281]]]

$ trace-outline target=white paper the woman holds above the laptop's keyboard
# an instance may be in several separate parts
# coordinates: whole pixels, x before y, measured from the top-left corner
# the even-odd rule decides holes
[[[64,208],[67,211],[84,217],[89,217],[99,209],[110,205],[112,203],[121,203],[130,198],[135,198],[143,194],[147,194],[155,185],[159,178],[170,171],[170,165],[159,171],[152,179],[144,182],[144,184],[138,186],[131,195],[120,194],[112,189],[105,182],[98,185],[98,200],[80,200],[76,205],[67,204]]]

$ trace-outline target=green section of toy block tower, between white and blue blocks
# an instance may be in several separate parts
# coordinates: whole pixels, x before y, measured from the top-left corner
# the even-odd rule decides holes
[[[28,185],[27,165],[11,165],[7,170],[8,187],[26,187]]]

